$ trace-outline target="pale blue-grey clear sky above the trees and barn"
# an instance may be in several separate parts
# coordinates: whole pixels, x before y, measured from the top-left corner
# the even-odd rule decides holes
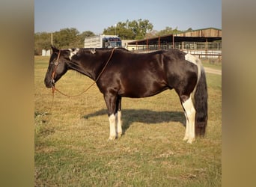
[[[127,19],[148,19],[156,31],[222,28],[222,0],[34,0],[34,32],[76,28],[102,34]]]

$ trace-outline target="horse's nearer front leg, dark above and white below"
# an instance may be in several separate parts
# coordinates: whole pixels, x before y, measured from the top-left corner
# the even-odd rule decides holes
[[[116,114],[117,111],[117,99],[118,96],[115,96],[110,93],[104,94],[104,99],[106,102],[106,106],[108,108],[108,114],[109,114],[109,140],[115,140],[115,138],[118,138],[118,133],[116,130],[116,123],[117,123],[117,116]]]

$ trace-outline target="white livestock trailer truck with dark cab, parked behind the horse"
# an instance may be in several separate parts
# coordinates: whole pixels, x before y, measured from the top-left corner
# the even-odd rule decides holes
[[[85,37],[85,48],[113,48],[122,46],[120,37],[116,35],[100,34],[94,37]]]

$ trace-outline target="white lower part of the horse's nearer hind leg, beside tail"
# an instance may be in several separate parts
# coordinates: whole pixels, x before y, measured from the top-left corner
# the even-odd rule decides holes
[[[185,137],[188,138],[187,143],[192,144],[192,141],[195,141],[195,108],[191,99],[187,99],[185,102],[182,103],[187,117],[187,124],[186,126],[186,133]],[[188,130],[187,130],[188,129]]]

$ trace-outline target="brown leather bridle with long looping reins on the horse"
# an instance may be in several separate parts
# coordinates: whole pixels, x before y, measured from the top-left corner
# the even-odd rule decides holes
[[[55,91],[58,91],[58,93],[61,93],[62,95],[68,96],[68,97],[70,97],[70,96],[80,96],[80,95],[82,95],[82,93],[85,93],[86,91],[88,91],[88,90],[100,79],[100,76],[103,74],[104,70],[106,69],[107,65],[109,64],[109,61],[111,60],[112,55],[113,55],[113,53],[114,53],[114,50],[115,50],[116,48],[117,48],[117,47],[115,47],[115,48],[112,49],[112,52],[111,52],[111,54],[109,55],[109,59],[108,59],[108,61],[106,62],[105,66],[103,67],[103,70],[101,70],[100,74],[97,76],[97,79],[95,79],[95,81],[94,81],[90,86],[88,86],[88,88],[86,88],[85,91],[82,91],[81,93],[76,94],[76,95],[68,95],[68,94],[66,94],[66,93],[63,93],[63,92],[59,91],[57,88],[55,88],[55,85],[52,85],[52,101],[53,101],[53,96],[54,96],[54,92],[55,92]],[[59,52],[58,52],[58,58],[57,58],[57,60],[55,61],[55,67],[54,67],[54,70],[53,70],[53,72],[52,72],[52,82],[54,82],[54,76],[55,76],[55,72],[56,72],[57,67],[58,67],[58,64],[59,64],[58,61],[59,61],[60,55],[61,55],[61,49],[59,50]]]

